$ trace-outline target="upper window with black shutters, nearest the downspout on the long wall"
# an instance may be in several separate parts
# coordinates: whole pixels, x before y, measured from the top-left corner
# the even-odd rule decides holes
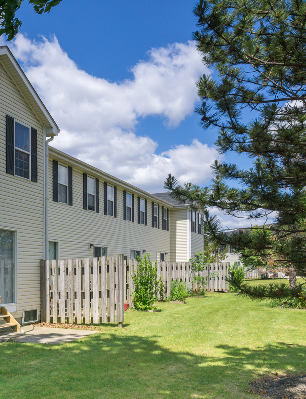
[[[72,168],[52,161],[53,201],[72,205]]]

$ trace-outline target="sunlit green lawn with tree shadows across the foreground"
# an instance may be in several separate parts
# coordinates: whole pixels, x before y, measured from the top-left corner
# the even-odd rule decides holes
[[[249,381],[306,372],[306,311],[224,293],[159,309],[81,341],[0,344],[0,398],[259,399]]]

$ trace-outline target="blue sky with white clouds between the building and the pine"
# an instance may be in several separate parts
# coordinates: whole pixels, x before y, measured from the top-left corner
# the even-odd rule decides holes
[[[168,173],[209,183],[219,156],[193,112],[196,81],[211,72],[191,39],[194,5],[63,0],[37,15],[23,2],[19,34],[0,44],[59,125],[52,145],[151,193]]]

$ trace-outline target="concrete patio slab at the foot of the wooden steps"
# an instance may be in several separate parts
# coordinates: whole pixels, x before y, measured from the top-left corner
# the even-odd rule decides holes
[[[23,326],[21,327],[20,333],[11,331],[0,335],[0,342],[12,339],[15,342],[34,344],[61,344],[95,333],[97,333],[97,331],[75,330],[70,328]]]

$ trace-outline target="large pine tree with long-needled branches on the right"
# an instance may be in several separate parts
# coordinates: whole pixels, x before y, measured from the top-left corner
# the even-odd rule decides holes
[[[194,13],[194,39],[212,70],[198,81],[200,123],[217,130],[221,154],[245,154],[252,167],[215,161],[212,186],[179,186],[169,176],[165,187],[205,209],[211,239],[274,256],[306,277],[306,1],[200,0]],[[253,236],[249,230],[229,235],[209,206],[249,219],[246,226],[275,212],[275,223]],[[290,292],[275,286],[268,296],[298,290],[293,280]],[[267,296],[245,285],[241,291]]]

